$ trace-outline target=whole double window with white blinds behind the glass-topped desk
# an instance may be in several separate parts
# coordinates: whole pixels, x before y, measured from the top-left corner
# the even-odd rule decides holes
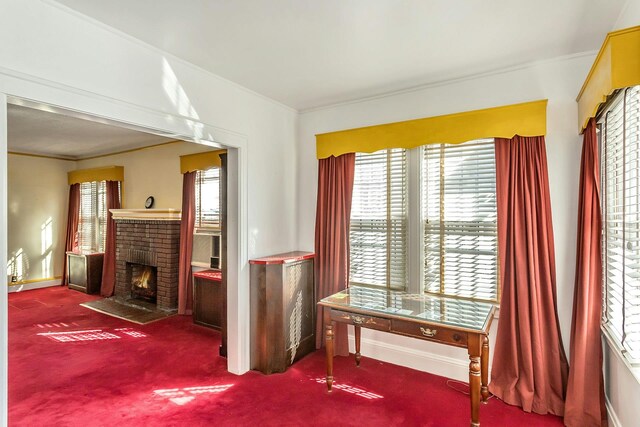
[[[357,153],[350,244],[351,285],[497,302],[493,140]]]

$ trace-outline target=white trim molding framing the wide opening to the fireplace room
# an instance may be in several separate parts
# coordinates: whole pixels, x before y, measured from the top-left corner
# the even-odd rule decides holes
[[[248,269],[248,137],[247,135],[204,121],[171,114],[102,94],[82,90],[56,81],[43,79],[29,74],[14,71],[0,66],[0,261],[6,264],[6,105],[11,102],[33,108],[46,107],[71,117],[93,120],[121,126],[128,129],[141,130],[155,135],[162,135],[187,142],[198,143],[215,148],[229,150],[230,174],[228,182],[229,215],[236,215],[229,222],[228,259],[228,354],[227,369],[234,374],[243,374],[249,370],[249,310],[245,301],[249,300]],[[3,134],[4,133],[4,134]],[[4,147],[4,148],[3,148]],[[233,170],[237,168],[237,170]],[[4,208],[3,208],[4,207]],[[3,213],[4,212],[4,213]],[[231,239],[235,239],[232,246]],[[6,276],[5,276],[6,277]],[[0,324],[4,328],[0,333],[0,425],[3,425],[3,408],[7,406],[7,341],[6,316],[7,292],[0,296]],[[4,298],[4,299],[2,299]],[[4,320],[2,320],[4,319]],[[233,334],[242,333],[241,339]],[[3,335],[4,334],[4,335]],[[4,369],[4,371],[2,371]],[[6,424],[6,418],[5,422]]]

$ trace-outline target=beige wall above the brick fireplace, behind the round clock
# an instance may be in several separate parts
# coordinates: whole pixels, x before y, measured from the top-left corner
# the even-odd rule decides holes
[[[77,162],[77,169],[101,166],[124,166],[123,207],[144,208],[149,196],[155,199],[154,208],[180,209],[182,206],[182,174],[180,156],[213,150],[189,142],[179,141]]]

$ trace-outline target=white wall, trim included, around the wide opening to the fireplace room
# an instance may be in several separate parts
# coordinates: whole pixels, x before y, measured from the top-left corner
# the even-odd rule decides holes
[[[297,113],[46,0],[2,0],[0,40],[0,100],[7,94],[237,148],[229,153],[237,168],[230,171],[228,367],[248,370],[247,260],[297,243]],[[2,163],[6,149],[0,156]],[[0,197],[0,225],[6,212]],[[6,258],[4,249],[0,255]],[[1,304],[0,317],[6,309]],[[5,341],[6,322],[1,328]],[[7,359],[4,352],[0,357],[0,413],[6,414]]]

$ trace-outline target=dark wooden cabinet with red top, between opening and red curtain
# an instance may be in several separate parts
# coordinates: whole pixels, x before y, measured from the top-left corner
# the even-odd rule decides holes
[[[251,265],[251,369],[284,372],[315,349],[312,253],[289,252]]]

